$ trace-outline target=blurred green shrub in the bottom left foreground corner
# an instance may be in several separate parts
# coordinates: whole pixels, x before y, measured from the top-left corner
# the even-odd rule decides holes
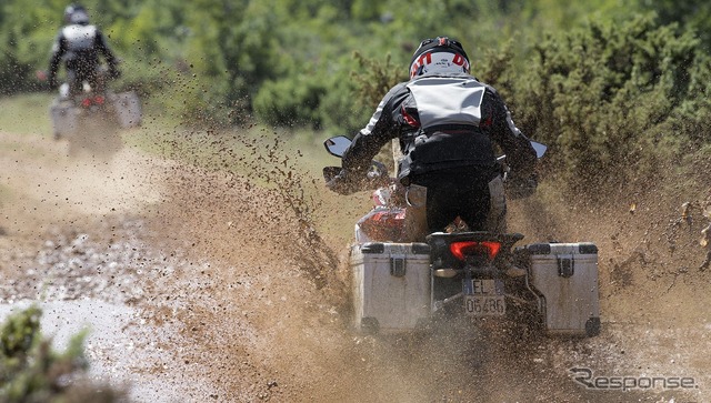
[[[84,333],[63,353],[51,347],[40,333],[42,311],[30,306],[14,313],[0,329],[1,402],[113,402],[120,393],[79,382],[88,367],[83,356]]]

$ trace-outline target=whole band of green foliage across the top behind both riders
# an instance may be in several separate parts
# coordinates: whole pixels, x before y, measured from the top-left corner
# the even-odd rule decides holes
[[[0,92],[39,88],[66,3],[0,4]],[[445,34],[571,180],[651,173],[708,142],[711,6],[693,0],[83,3],[123,60],[116,85],[187,124],[353,133],[419,40]]]

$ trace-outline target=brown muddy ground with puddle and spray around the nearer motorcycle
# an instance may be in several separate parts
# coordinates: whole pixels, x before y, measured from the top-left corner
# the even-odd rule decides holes
[[[600,248],[597,337],[452,324],[374,339],[348,329],[347,241],[313,225],[334,214],[332,197],[310,210],[299,192],[130,147],[97,160],[70,159],[66,142],[38,135],[0,133],[0,315],[41,303],[59,347],[88,328],[90,376],[132,401],[711,401],[711,272],[699,244],[708,182],[608,191],[602,203],[549,189],[510,203],[510,228],[525,242]],[[350,228],[363,212],[336,221]],[[588,369],[598,386],[571,369]]]

